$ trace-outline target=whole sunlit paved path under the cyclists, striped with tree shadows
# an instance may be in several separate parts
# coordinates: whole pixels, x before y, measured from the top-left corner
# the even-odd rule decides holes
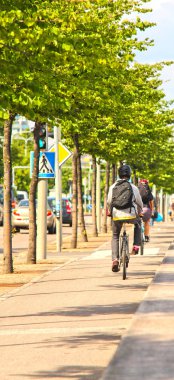
[[[136,380],[146,379],[146,374],[140,372],[144,368],[144,372],[148,369],[149,380],[172,379],[168,373],[168,377],[160,377],[165,374],[164,369],[158,371],[163,357],[160,366],[159,359],[157,366],[152,358],[157,359],[153,351],[158,339],[157,351],[161,352],[161,344],[163,354],[167,350],[168,359],[173,361],[172,340],[166,339],[169,333],[173,335],[170,311],[174,251],[168,251],[173,234],[174,224],[156,224],[145,255],[131,258],[125,281],[120,272],[111,271],[109,237],[109,242],[92,253],[71,255],[65,264],[1,296],[1,378]],[[165,276],[168,282],[163,282]],[[163,329],[167,328],[166,335]],[[135,345],[137,341],[139,346]],[[145,345],[147,361],[141,344]],[[167,363],[170,368],[170,361]],[[157,377],[151,376],[153,371],[157,371]]]

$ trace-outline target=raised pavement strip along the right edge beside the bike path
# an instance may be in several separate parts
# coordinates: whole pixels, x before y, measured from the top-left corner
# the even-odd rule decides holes
[[[102,379],[174,379],[174,244]]]

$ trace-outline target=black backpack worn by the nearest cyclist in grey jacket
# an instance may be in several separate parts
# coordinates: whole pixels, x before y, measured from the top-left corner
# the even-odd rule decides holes
[[[111,201],[111,212],[113,207],[117,210],[125,210],[133,206],[132,203],[133,190],[130,182],[123,179],[118,181],[112,189],[112,201]]]

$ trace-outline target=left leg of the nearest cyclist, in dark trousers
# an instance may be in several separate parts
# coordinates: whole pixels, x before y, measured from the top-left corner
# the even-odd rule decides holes
[[[119,270],[119,238],[123,222],[118,220],[112,221],[112,271]]]

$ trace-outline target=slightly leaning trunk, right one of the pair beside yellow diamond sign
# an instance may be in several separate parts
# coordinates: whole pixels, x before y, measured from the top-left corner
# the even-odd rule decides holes
[[[81,160],[79,153],[79,142],[78,142],[78,134],[74,136],[74,143],[77,150],[77,188],[78,188],[78,226],[80,228],[81,238],[83,241],[88,241],[86,226],[85,226],[85,218],[84,218],[84,210],[83,210],[83,195],[82,195],[82,169],[81,169]]]

